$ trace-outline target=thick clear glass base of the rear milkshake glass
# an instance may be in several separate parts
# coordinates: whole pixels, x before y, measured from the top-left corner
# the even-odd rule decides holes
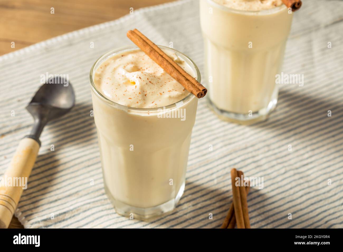
[[[208,106],[213,110],[213,112],[224,121],[230,121],[240,124],[252,124],[259,121],[264,121],[268,119],[269,113],[274,110],[277,103],[277,98],[274,98],[270,101],[267,108],[260,109],[259,111],[240,114],[235,112],[230,112],[217,108],[209,97],[206,97]]]

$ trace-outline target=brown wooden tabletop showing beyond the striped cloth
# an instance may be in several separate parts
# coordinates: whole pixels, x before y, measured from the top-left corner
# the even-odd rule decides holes
[[[0,0],[0,55],[173,0]],[[51,14],[54,8],[54,14]],[[14,48],[11,45],[14,42]],[[13,217],[9,228],[23,228]]]

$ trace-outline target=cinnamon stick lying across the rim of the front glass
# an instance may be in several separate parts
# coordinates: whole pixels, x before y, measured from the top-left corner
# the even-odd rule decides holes
[[[126,35],[153,61],[163,68],[164,71],[184,86],[187,91],[198,98],[206,95],[207,89],[203,85],[183,70],[173,59],[166,55],[166,53],[164,53],[157,45],[137,29],[134,29],[134,31],[128,31]]]

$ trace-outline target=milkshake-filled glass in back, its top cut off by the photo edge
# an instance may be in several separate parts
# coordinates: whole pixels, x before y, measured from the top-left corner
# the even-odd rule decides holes
[[[223,119],[265,119],[275,108],[292,15],[281,0],[201,0],[210,107]]]

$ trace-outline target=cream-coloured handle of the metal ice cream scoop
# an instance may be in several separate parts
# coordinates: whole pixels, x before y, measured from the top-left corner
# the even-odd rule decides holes
[[[39,150],[32,138],[23,138],[12,158],[9,168],[0,181],[0,228],[8,228],[14,211],[27,187],[27,180]]]

